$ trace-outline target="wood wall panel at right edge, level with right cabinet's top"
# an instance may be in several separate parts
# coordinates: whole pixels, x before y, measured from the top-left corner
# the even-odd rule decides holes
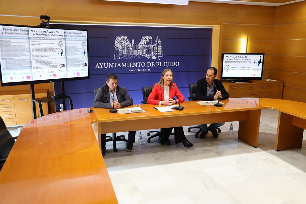
[[[306,73],[297,73],[294,68],[291,71],[270,70],[270,77],[284,81],[284,87],[306,89]]]

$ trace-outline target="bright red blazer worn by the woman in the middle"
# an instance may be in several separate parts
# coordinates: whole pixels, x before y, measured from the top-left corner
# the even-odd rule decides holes
[[[183,94],[179,91],[179,89],[177,88],[176,84],[173,83],[175,90],[177,92],[177,94],[175,93],[175,90],[173,87],[169,87],[169,96],[170,98],[174,98],[174,96],[176,96],[177,100],[179,98],[180,102],[183,103],[185,101],[185,98],[183,96]],[[162,89],[159,85],[154,85],[154,88],[152,90],[152,92],[150,93],[150,95],[148,96],[148,104],[155,104],[158,105],[159,101],[163,101],[164,100],[164,89]],[[178,100],[178,101],[179,101]]]

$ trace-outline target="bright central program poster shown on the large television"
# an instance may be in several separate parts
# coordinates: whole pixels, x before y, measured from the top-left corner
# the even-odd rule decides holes
[[[33,80],[66,78],[64,30],[28,29]]]

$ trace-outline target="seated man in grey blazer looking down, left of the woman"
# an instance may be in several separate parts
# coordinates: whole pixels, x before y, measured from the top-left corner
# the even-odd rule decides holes
[[[94,108],[124,108],[133,105],[133,99],[127,93],[127,89],[118,86],[118,77],[115,74],[108,74],[106,84],[99,88],[95,100],[93,101]],[[115,93],[114,93],[115,92]],[[114,106],[114,107],[113,107]],[[132,151],[133,143],[135,142],[136,131],[129,131],[125,150]],[[106,134],[101,134],[102,156],[105,156]]]

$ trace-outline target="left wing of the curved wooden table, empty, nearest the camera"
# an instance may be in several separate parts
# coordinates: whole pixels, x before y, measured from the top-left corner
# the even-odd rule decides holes
[[[22,128],[0,172],[0,203],[118,203],[87,109]]]

